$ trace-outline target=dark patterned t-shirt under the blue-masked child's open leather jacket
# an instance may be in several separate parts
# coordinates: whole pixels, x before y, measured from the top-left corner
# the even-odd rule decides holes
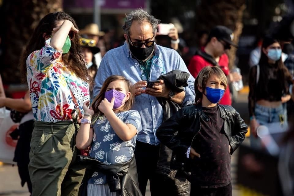
[[[229,141],[224,134],[224,119],[218,106],[202,107],[208,121],[200,118],[201,130],[192,147],[200,158],[194,158],[191,175],[194,184],[202,188],[224,187],[231,183],[231,155]]]

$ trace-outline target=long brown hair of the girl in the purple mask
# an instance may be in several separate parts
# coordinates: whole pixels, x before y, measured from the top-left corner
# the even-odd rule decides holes
[[[118,75],[113,75],[113,76],[110,76],[108,77],[102,87],[101,87],[101,90],[98,94],[98,96],[96,96],[96,98],[93,100],[93,103],[92,103],[92,108],[95,112],[95,114],[93,115],[93,119],[95,121],[96,117],[99,117],[100,115],[102,115],[103,113],[99,110],[98,106],[99,104],[101,103],[102,100],[104,100],[104,95],[105,95],[105,92],[106,92],[106,89],[108,87],[108,85],[113,82],[113,81],[117,81],[117,80],[121,80],[121,81],[124,81],[125,84],[126,84],[126,91],[127,92],[131,92],[131,95],[129,97],[129,99],[125,102],[124,106],[120,109],[121,111],[127,111],[127,110],[130,110],[133,103],[134,103],[134,94],[133,94],[133,85],[131,84],[131,82],[129,80],[127,80],[125,77],[123,76],[118,76]]]

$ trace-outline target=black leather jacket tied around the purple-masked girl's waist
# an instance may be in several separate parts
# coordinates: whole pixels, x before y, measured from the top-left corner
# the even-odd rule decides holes
[[[79,190],[79,196],[87,196],[88,180],[94,171],[106,175],[110,192],[119,191],[119,196],[141,196],[135,157],[129,161],[106,165],[90,156],[77,156],[81,164],[86,164],[86,174]]]

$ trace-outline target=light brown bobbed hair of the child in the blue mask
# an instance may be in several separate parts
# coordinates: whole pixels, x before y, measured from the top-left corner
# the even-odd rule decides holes
[[[224,72],[218,66],[206,66],[198,74],[195,79],[195,103],[201,104],[202,101],[202,92],[205,90],[206,83],[210,76],[215,75],[224,83],[224,89],[227,89],[228,81],[227,77],[224,75]],[[199,91],[198,86],[202,89],[202,92]]]

